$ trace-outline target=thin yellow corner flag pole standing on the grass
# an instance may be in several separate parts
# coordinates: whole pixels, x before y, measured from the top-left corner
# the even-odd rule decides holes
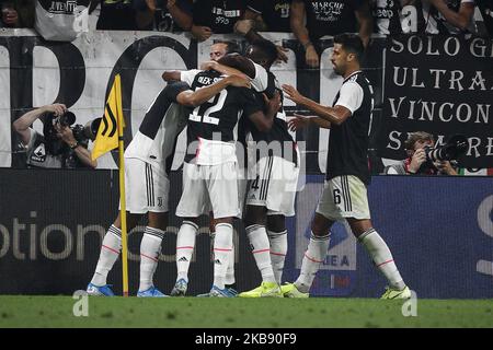
[[[115,77],[117,110],[122,106],[122,84],[119,74]],[[122,271],[123,271],[123,296],[128,296],[128,243],[127,243],[127,208],[125,202],[125,161],[124,161],[124,117],[118,114],[118,175],[119,175],[119,218],[122,219]]]

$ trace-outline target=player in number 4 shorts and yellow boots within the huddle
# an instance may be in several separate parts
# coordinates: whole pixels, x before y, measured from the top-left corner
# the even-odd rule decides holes
[[[256,40],[246,48],[244,56],[246,58],[236,57],[231,60],[236,59],[238,65],[251,66],[249,60],[261,65],[267,72],[266,81],[262,82],[266,89],[262,93],[267,97],[276,92],[282,94],[275,75],[270,71],[277,58],[276,46],[268,40]],[[234,62],[229,63],[236,67]],[[256,79],[257,77],[253,78],[252,86],[256,85]],[[249,153],[253,154],[255,163],[249,164],[249,173],[254,176],[249,176],[253,180],[248,188],[243,222],[262,276],[262,284],[239,296],[283,296],[279,284],[287,254],[286,217],[295,214],[298,150],[289,135],[283,108],[279,108],[267,132],[262,132],[252,125],[246,130],[252,139],[249,141]]]

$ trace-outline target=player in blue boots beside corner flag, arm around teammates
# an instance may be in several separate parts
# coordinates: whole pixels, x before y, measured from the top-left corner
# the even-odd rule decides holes
[[[196,106],[229,85],[249,86],[239,77],[228,79],[197,92],[184,83],[169,84],[162,90],[146,113],[135,138],[125,151],[125,183],[127,202],[127,228],[131,231],[142,214],[148,213],[140,245],[140,284],[138,296],[164,296],[153,287],[152,277],[158,265],[161,242],[168,226],[169,172],[179,133],[186,125],[184,106]],[[119,213],[108,229],[101,248],[94,276],[87,291],[91,295],[114,295],[106,278],[121,250]]]

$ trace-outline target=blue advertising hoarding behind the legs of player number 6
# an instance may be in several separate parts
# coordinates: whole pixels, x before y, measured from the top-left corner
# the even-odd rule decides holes
[[[299,275],[322,184],[308,176],[298,196],[286,280]],[[493,298],[491,177],[376,176],[368,197],[374,226],[419,298]],[[385,285],[347,224],[334,225],[311,295],[377,298]]]

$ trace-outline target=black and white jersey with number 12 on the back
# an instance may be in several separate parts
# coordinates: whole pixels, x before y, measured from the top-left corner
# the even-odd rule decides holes
[[[222,79],[216,71],[182,72],[182,81],[192,90],[211,85]],[[185,162],[216,165],[237,161],[238,120],[263,109],[263,101],[251,89],[228,86],[188,115]]]

